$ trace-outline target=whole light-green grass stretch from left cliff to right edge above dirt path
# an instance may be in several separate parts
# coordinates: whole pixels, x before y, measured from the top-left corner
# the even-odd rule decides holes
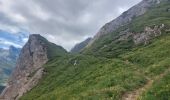
[[[45,65],[40,83],[21,100],[121,99],[170,67],[169,50],[166,35],[121,55],[122,60],[84,55],[53,59]]]

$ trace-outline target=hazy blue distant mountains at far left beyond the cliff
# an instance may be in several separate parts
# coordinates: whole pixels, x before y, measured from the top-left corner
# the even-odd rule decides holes
[[[0,84],[6,84],[12,70],[15,68],[20,48],[10,46],[9,49],[0,49]]]

